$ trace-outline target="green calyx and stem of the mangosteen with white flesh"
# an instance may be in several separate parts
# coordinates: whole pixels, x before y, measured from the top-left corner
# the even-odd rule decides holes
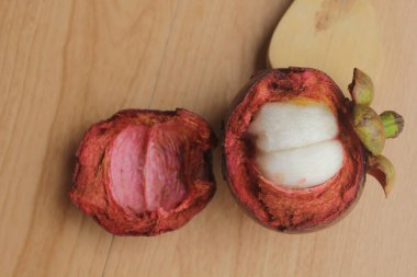
[[[381,115],[370,107],[374,92],[371,78],[359,69],[353,71],[353,80],[349,92],[354,103],[352,116],[353,128],[362,145],[370,152],[368,173],[382,185],[387,196],[395,183],[394,165],[382,155],[386,138],[396,138],[404,128],[404,118],[386,111]]]

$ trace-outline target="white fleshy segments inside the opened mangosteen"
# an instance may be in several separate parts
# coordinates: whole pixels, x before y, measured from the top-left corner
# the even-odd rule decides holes
[[[257,166],[274,184],[312,187],[342,166],[336,117],[319,102],[264,104],[249,132],[256,138]]]

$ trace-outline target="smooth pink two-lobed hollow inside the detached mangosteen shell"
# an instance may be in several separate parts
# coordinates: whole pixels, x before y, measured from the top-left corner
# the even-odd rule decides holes
[[[127,210],[169,210],[185,195],[181,140],[176,137],[178,128],[167,125],[128,126],[114,140],[111,191]]]

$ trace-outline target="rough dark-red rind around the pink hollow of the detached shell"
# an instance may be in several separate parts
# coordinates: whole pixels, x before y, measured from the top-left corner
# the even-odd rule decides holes
[[[140,213],[124,209],[111,192],[110,153],[117,134],[127,126],[153,126],[176,120],[180,136],[188,136],[184,182],[187,194],[171,210]],[[176,230],[201,211],[213,197],[216,186],[212,172],[212,149],[216,138],[208,124],[187,109],[174,112],[126,109],[92,125],[77,150],[77,164],[70,199],[109,232],[117,235],[157,235]],[[190,150],[192,148],[192,150]],[[193,154],[191,154],[191,152]]]

